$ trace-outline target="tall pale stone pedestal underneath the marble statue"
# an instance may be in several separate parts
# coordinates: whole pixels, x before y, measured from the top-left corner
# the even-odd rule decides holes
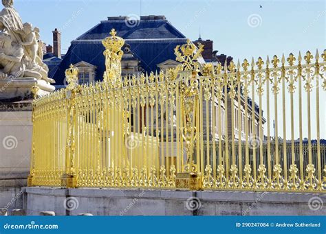
[[[35,78],[0,80],[0,207],[21,209],[32,152],[32,88],[46,95],[54,86]]]

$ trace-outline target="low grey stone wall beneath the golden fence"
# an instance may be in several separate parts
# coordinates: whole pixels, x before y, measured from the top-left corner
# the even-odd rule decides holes
[[[323,194],[25,187],[27,215],[326,215]]]

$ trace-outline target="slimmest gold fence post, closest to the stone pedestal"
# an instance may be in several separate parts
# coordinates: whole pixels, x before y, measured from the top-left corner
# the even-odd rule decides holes
[[[67,109],[67,142],[65,145],[65,174],[61,178],[61,185],[67,188],[77,187],[76,170],[74,166],[76,140],[76,87],[78,85],[78,69],[70,65],[65,71],[67,80],[66,99]]]

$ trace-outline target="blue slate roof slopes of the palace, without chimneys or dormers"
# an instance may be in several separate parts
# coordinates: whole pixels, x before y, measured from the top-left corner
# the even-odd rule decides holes
[[[52,76],[56,85],[63,84],[65,69],[80,61],[95,65],[96,80],[102,80],[105,71],[105,47],[102,39],[109,36],[112,28],[118,36],[126,40],[135,58],[140,60],[140,66],[148,73],[158,71],[157,65],[161,62],[175,60],[175,47],[186,43],[186,36],[175,29],[164,16],[141,16],[140,21],[135,23],[135,27],[128,27],[129,23],[124,17],[109,17],[107,21],[101,21],[73,40],[65,58]]]

